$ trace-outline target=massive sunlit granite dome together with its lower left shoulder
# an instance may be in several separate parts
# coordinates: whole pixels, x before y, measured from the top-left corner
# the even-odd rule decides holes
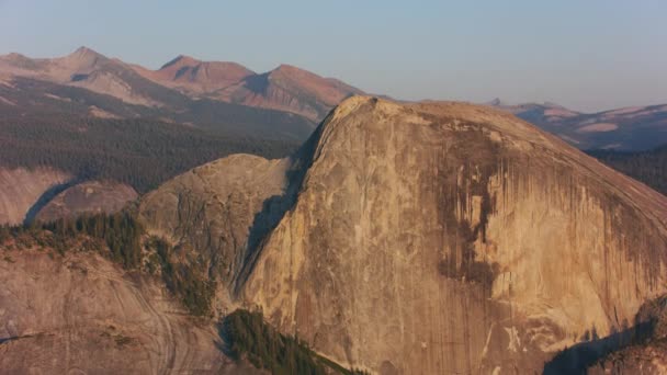
[[[558,354],[667,293],[667,197],[485,106],[354,96],[292,157],[205,164],[138,215],[215,308],[380,374],[585,371]]]

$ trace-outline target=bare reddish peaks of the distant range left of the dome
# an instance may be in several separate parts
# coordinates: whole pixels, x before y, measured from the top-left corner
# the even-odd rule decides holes
[[[15,78],[82,88],[116,98],[125,104],[176,113],[188,106],[184,99],[208,100],[278,110],[314,123],[341,100],[363,93],[339,80],[289,65],[256,73],[236,63],[200,61],[179,56],[160,69],[150,70],[87,47],[52,59],[33,59],[19,54],[0,56],[0,83],[11,86]],[[9,98],[0,101],[12,103]],[[118,115],[102,109],[93,109],[91,114]]]

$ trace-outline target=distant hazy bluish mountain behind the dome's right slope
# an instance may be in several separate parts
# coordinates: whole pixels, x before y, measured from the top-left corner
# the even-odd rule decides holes
[[[553,103],[510,105],[498,99],[487,105],[510,112],[580,149],[640,151],[667,141],[667,105],[599,113],[579,113]]]

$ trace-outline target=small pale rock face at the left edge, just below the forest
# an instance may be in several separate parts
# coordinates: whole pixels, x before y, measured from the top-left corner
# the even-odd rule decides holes
[[[72,177],[50,168],[0,169],[0,225],[22,224],[39,198],[65,186]]]

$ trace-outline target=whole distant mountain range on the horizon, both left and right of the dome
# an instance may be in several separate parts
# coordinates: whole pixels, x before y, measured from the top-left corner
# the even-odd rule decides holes
[[[343,99],[363,91],[290,65],[258,73],[236,63],[178,56],[160,69],[80,47],[58,58],[0,56],[0,113],[150,117],[303,141]],[[647,150],[667,143],[667,104],[580,113],[554,103],[487,105],[580,149]]]

